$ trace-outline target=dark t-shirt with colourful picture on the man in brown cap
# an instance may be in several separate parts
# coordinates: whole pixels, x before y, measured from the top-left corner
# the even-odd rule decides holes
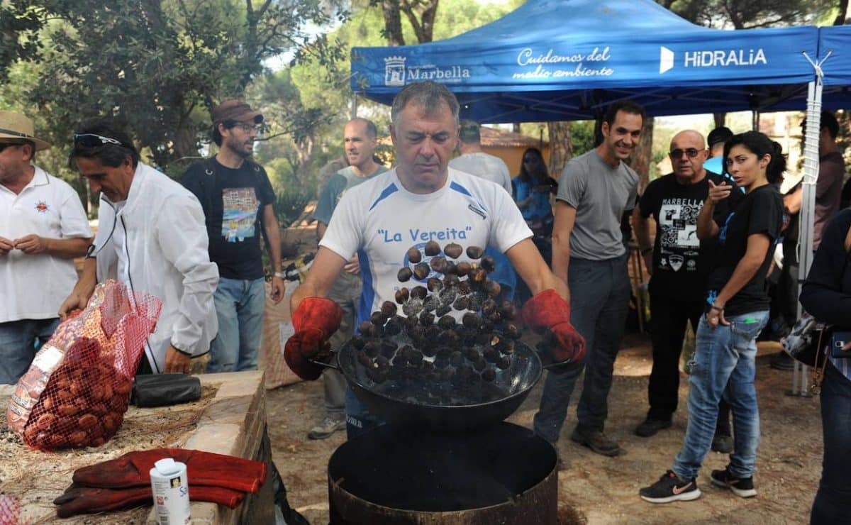
[[[212,158],[193,164],[181,182],[204,209],[210,260],[219,266],[220,277],[263,277],[261,218],[266,204],[275,202],[266,170],[248,162],[226,168]]]

